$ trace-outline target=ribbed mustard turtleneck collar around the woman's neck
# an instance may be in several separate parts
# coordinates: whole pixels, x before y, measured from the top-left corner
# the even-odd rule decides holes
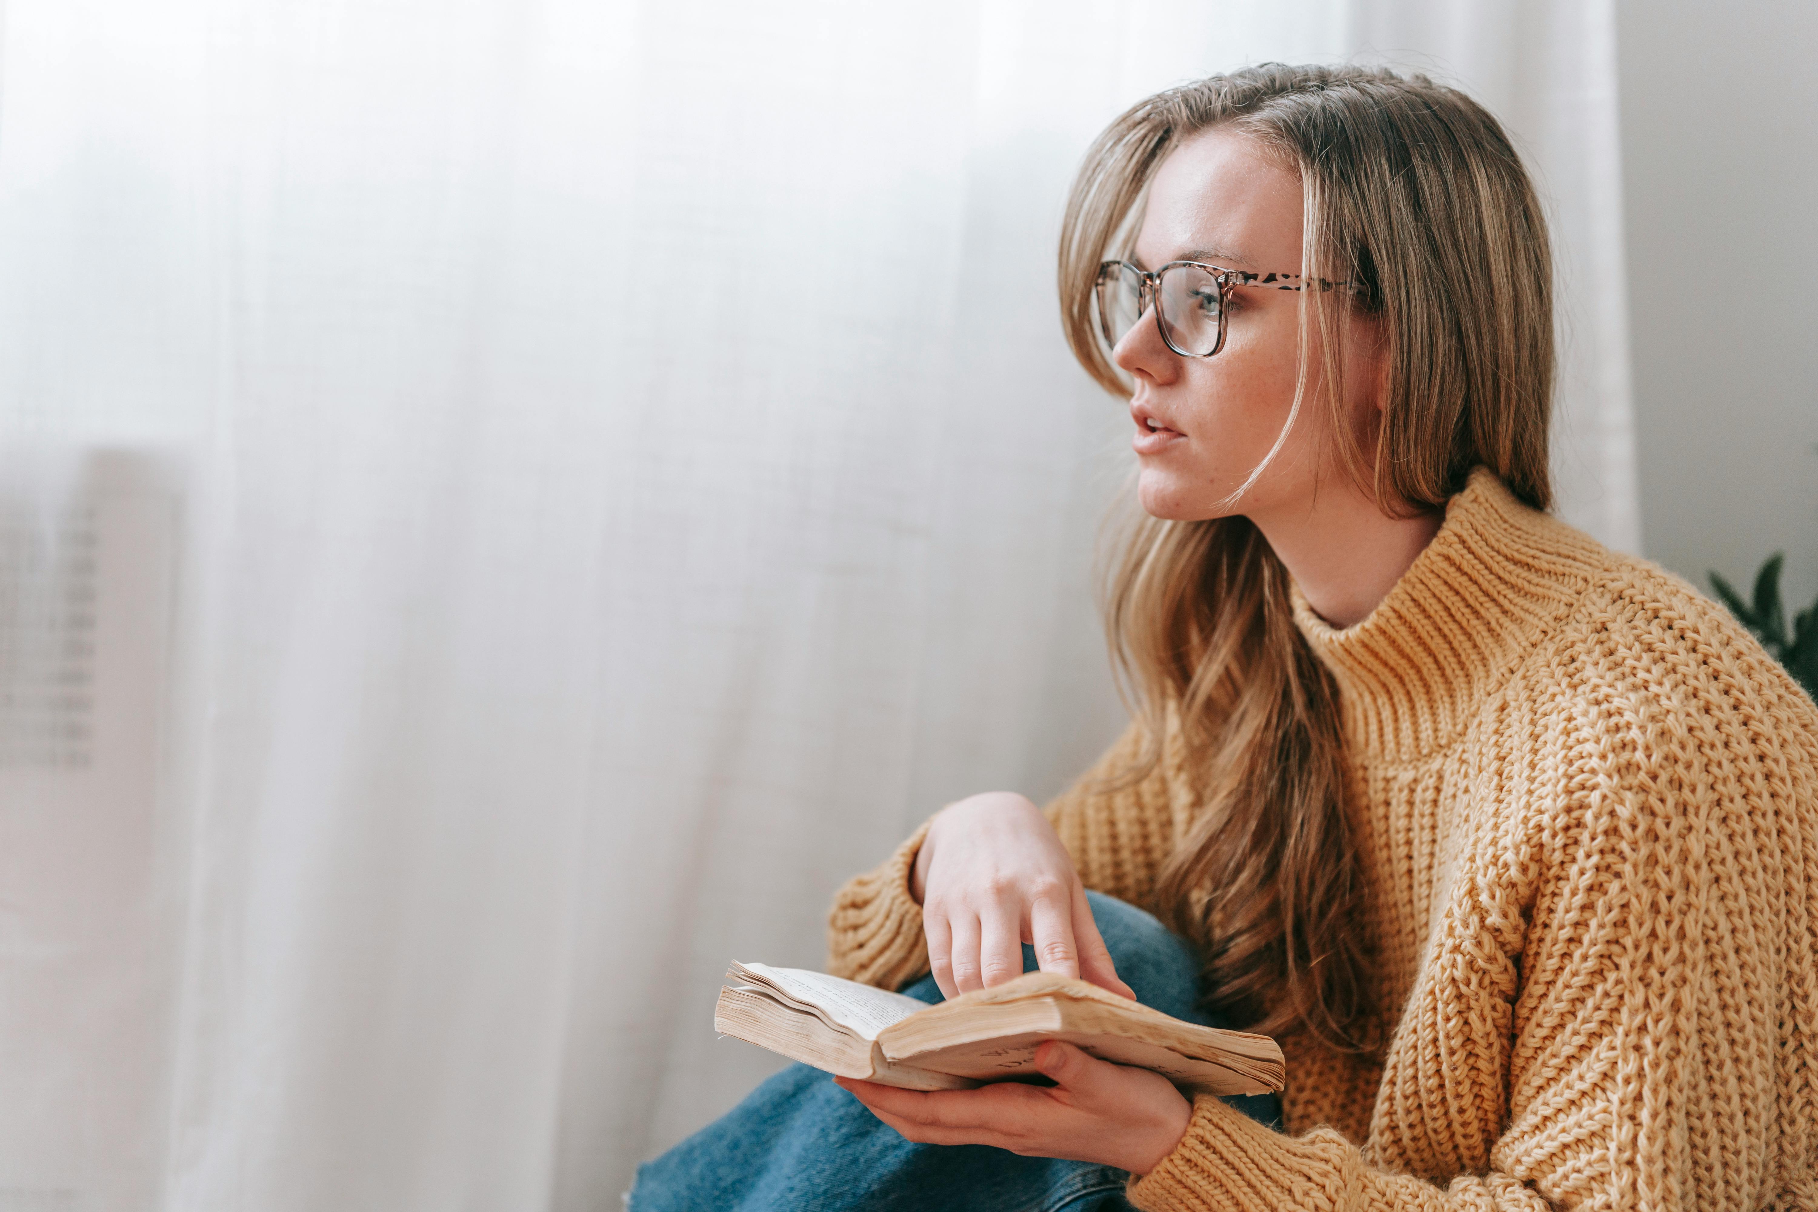
[[[1453,740],[1563,620],[1607,552],[1529,509],[1482,467],[1369,618],[1331,627],[1296,585],[1294,621],[1338,680],[1365,758],[1411,760]]]

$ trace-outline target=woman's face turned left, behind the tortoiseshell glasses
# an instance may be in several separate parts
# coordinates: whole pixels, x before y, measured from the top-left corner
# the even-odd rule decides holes
[[[1211,129],[1176,147],[1149,187],[1136,236],[1136,262],[1207,262],[1222,269],[1300,273],[1302,191],[1289,169],[1256,144]],[[1144,318],[1111,358],[1134,380],[1133,447],[1142,463],[1140,498],[1158,518],[1198,520],[1245,514],[1260,520],[1311,509],[1314,487],[1342,485],[1324,383],[1309,373],[1293,431],[1262,476],[1229,502],[1269,454],[1294,403],[1300,365],[1298,291],[1236,287],[1227,294],[1225,343],[1211,358],[1182,358]],[[1309,323],[1313,316],[1309,316]],[[1371,329],[1354,323],[1360,340]],[[1316,336],[1316,333],[1314,333]],[[1356,342],[1353,342],[1356,343]],[[1371,349],[1347,351],[1347,402],[1354,420],[1374,407],[1380,373]],[[1320,365],[1318,343],[1311,367]]]

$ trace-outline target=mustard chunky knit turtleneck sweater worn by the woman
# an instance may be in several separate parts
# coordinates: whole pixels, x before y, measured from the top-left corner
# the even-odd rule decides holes
[[[1818,1208],[1818,709],[1720,607],[1476,472],[1334,631],[1382,1054],[1282,1041],[1287,1132],[1216,1099],[1140,1208]],[[1196,810],[1125,734],[1049,814],[1151,903]],[[925,832],[925,827],[924,827]],[[833,970],[927,970],[924,832],[838,896]]]

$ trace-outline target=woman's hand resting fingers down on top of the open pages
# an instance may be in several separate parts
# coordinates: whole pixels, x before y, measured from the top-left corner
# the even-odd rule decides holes
[[[1136,998],[1111,965],[1073,858],[1029,800],[994,790],[942,809],[909,883],[947,998],[1022,976],[1024,943],[1044,972]]]

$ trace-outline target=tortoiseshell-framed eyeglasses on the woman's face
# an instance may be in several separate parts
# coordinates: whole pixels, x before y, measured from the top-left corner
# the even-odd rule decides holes
[[[1098,327],[1105,343],[1116,343],[1136,327],[1151,307],[1162,340],[1182,358],[1211,358],[1225,345],[1225,300],[1234,287],[1258,285],[1276,291],[1351,291],[1356,282],[1327,282],[1302,274],[1253,274],[1242,269],[1220,269],[1205,262],[1169,262],[1154,273],[1136,269],[1129,262],[1102,262],[1098,265]]]

